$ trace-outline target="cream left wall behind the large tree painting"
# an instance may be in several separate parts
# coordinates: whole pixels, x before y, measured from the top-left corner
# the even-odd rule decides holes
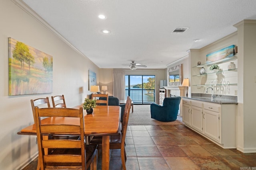
[[[1,0],[0,23],[0,169],[13,170],[38,151],[35,136],[17,135],[34,122],[30,100],[64,94],[68,107],[77,106],[90,94],[88,69],[98,75],[99,68],[10,0]],[[52,94],[8,96],[8,37],[53,56]]]

